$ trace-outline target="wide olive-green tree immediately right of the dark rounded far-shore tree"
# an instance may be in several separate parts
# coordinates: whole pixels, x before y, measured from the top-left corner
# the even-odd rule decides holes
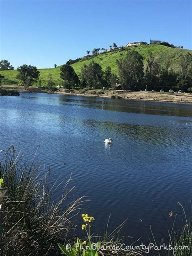
[[[85,81],[86,87],[101,88],[103,83],[102,68],[94,61],[81,68],[81,80]]]

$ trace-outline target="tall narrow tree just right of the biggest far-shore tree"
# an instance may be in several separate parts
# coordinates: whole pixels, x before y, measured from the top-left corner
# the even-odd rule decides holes
[[[156,89],[159,85],[159,74],[160,67],[159,64],[155,61],[155,58],[152,52],[146,58],[146,70],[145,70],[145,83],[148,90]]]

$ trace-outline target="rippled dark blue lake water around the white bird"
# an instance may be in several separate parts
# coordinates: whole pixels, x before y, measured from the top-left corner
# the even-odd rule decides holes
[[[21,93],[0,97],[0,148],[11,144],[66,177],[73,169],[75,196],[104,230],[128,218],[124,232],[167,234],[154,201],[169,218],[190,215],[192,105]],[[111,137],[113,145],[105,145]],[[2,154],[2,153],[1,153]],[[66,164],[64,164],[66,163]],[[140,223],[142,219],[142,223]],[[144,239],[143,239],[144,240]]]

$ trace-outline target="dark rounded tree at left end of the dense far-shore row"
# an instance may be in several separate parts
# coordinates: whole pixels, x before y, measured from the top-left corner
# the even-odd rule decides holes
[[[68,89],[79,83],[79,78],[72,66],[65,64],[60,70],[60,77],[65,81],[64,84],[67,84]]]

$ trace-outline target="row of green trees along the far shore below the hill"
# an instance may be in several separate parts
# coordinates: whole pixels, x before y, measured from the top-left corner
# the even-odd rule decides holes
[[[102,89],[102,87],[116,89],[116,84],[121,83],[123,90],[169,90],[179,89],[187,91],[192,87],[192,54],[187,53],[179,59],[179,72],[170,68],[170,61],[167,60],[165,66],[160,67],[154,55],[150,52],[146,57],[146,64],[143,65],[143,56],[137,51],[128,51],[125,58],[116,61],[118,75],[112,73],[111,67],[107,66],[102,70],[100,64],[93,60],[88,65],[81,68],[79,76],[72,66],[64,64],[60,68],[60,78],[63,87],[77,88],[87,87]],[[9,64],[10,65],[10,64]],[[11,68],[10,68],[11,69]],[[28,89],[39,79],[40,72],[35,66],[22,65],[17,68],[17,79]],[[54,81],[49,74],[47,87],[53,92]],[[189,90],[190,91],[190,90]]]

